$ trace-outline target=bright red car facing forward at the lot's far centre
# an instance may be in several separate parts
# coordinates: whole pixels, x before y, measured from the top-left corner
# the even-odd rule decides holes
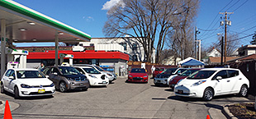
[[[126,82],[143,82],[148,83],[148,74],[145,69],[133,68],[128,75],[128,80]]]

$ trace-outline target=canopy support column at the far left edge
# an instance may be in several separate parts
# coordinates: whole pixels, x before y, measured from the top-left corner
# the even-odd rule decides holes
[[[1,78],[3,73],[6,71],[6,20],[1,20]]]

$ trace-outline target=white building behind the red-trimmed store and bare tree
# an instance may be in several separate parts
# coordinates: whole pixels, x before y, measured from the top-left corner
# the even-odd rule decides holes
[[[96,51],[120,51],[129,55],[129,61],[146,62],[142,44],[132,37],[92,38],[90,42],[80,42],[79,45],[94,46]],[[151,63],[155,63],[155,49],[153,51],[151,61]]]

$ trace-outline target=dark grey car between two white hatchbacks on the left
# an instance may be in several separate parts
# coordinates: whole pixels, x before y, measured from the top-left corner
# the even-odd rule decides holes
[[[43,73],[45,76],[49,76],[49,79],[54,82],[55,88],[60,92],[70,89],[87,90],[89,87],[87,77],[72,66],[47,66]]]

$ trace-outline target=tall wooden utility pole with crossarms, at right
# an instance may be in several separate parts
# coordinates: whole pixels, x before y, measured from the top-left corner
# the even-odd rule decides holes
[[[222,14],[222,15],[225,15],[225,21],[221,21],[220,22],[220,25],[223,25],[223,22],[225,23],[225,50],[224,50],[224,52],[225,52],[225,55],[224,55],[224,62],[226,63],[226,25],[231,25],[231,21],[228,21],[227,20],[227,15],[228,14],[233,14],[234,12],[227,12],[227,11],[225,11],[225,12],[220,12],[219,14]]]

